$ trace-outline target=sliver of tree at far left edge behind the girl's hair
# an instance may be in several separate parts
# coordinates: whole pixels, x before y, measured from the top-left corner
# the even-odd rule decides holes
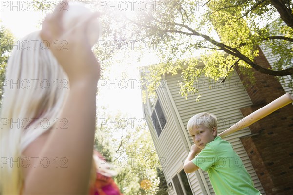
[[[2,103],[5,70],[10,52],[12,50],[12,43],[14,42],[14,39],[15,38],[13,34],[3,25],[0,25],[0,106]]]

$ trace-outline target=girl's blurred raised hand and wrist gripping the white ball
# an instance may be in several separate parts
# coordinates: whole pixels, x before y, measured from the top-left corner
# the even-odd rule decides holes
[[[46,16],[40,36],[47,43],[59,64],[67,73],[70,85],[81,80],[97,81],[100,77],[100,64],[94,56],[87,35],[88,24],[98,13],[84,15],[84,22],[72,29],[64,29],[62,17],[68,2],[62,1],[58,10]]]

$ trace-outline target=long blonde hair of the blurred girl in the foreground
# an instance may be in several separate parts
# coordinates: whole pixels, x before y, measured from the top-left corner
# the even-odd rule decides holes
[[[0,132],[3,195],[20,194],[22,152],[56,120],[60,122],[69,92],[69,85],[62,85],[68,81],[65,72],[43,43],[39,31],[27,35],[14,46],[8,61]]]

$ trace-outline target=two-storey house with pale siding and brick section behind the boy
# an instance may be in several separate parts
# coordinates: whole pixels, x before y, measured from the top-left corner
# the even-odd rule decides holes
[[[255,61],[270,67],[265,55]],[[144,74],[144,70],[141,71]],[[187,130],[188,120],[199,112],[209,112],[219,120],[218,134],[285,94],[279,81],[259,72],[254,74],[256,83],[244,86],[246,78],[237,68],[225,83],[209,82],[201,77],[194,85],[202,97],[179,94],[177,75],[163,76],[156,90],[156,99],[146,99],[143,104],[156,151],[159,155],[170,195],[214,195],[208,174],[202,170],[186,174],[183,163],[193,144]],[[288,79],[291,79],[288,77]],[[292,89],[286,88],[292,94]],[[254,186],[264,195],[293,193],[293,105],[287,105],[251,126],[226,138],[241,157],[251,175]]]

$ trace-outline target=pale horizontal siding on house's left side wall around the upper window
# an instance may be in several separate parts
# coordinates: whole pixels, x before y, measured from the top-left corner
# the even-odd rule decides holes
[[[174,120],[176,116],[172,114],[171,105],[168,103],[165,88],[157,90],[157,95],[167,121],[159,137],[154,129],[151,119],[151,114],[154,108],[150,108],[148,101],[144,104],[144,112],[146,114],[147,124],[153,138],[156,151],[162,163],[166,181],[167,183],[170,183],[172,182],[174,175],[183,169],[183,161],[188,155],[188,151],[186,150],[184,143],[185,140],[180,134],[180,131],[182,132],[180,125],[178,125],[176,120]],[[176,194],[175,189],[170,191],[169,194]]]

